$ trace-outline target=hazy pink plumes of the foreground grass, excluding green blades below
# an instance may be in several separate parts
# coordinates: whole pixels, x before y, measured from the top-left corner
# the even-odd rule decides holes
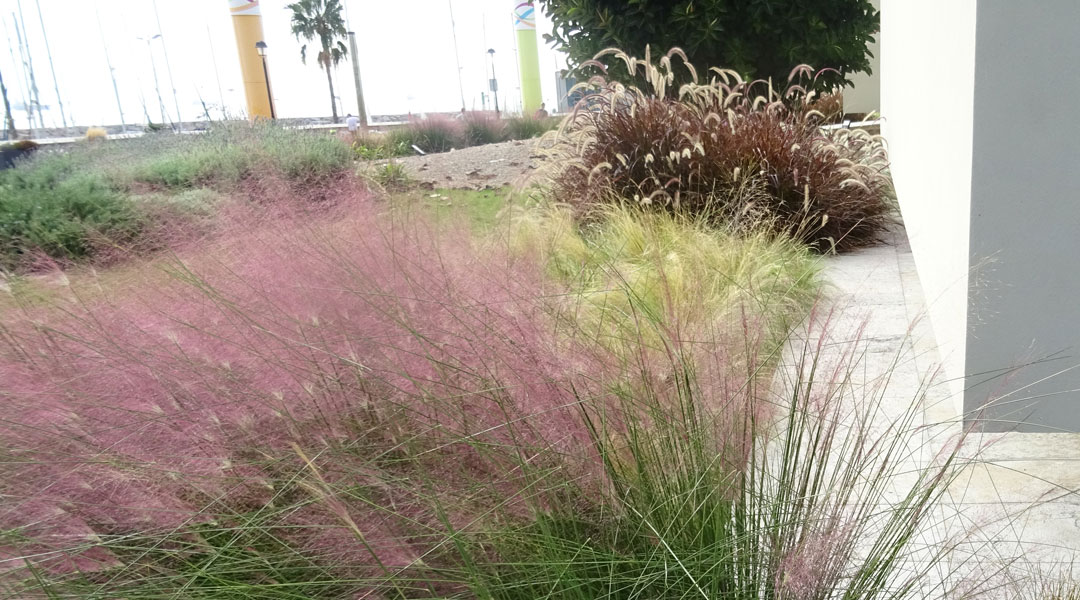
[[[303,471],[293,442],[345,485],[426,438],[433,480],[496,487],[584,445],[561,382],[603,365],[552,336],[538,269],[372,209],[292,224],[162,261],[156,288],[4,319],[3,436],[23,459],[4,465],[0,527],[32,541],[9,554],[65,570],[95,535],[273,502]]]

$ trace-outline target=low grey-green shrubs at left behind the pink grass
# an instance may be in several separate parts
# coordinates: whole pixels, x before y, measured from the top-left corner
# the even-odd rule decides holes
[[[0,172],[0,268],[25,269],[35,257],[95,258],[106,247],[109,260],[160,249],[190,233],[190,217],[204,220],[221,206],[219,194],[248,192],[241,183],[255,175],[260,201],[282,200],[276,185],[319,200],[327,195],[321,180],[350,173],[352,162],[336,138],[246,123],[21,160]]]

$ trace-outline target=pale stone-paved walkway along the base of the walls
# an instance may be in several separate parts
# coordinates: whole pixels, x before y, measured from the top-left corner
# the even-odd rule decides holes
[[[907,460],[913,468],[931,464],[960,439],[962,399],[941,373],[906,234],[901,228],[886,245],[827,258],[825,275],[838,308],[833,336],[861,339],[856,395],[879,394],[882,431],[918,403]],[[956,548],[937,570],[936,592],[926,592],[941,597],[957,586],[980,598],[1013,598],[1020,587],[1038,597],[1032,574],[1067,574],[1080,559],[1080,435],[972,434],[960,453],[964,467],[918,541]],[[996,589],[976,592],[984,586]]]

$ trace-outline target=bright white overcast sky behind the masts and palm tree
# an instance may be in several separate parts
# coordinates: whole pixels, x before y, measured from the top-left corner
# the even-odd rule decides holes
[[[451,2],[467,107],[481,108],[481,93],[486,91],[490,77],[488,47],[496,51],[500,104],[511,108],[519,106],[515,36],[511,23],[514,0],[343,1],[350,26],[357,33],[368,112],[422,113],[461,107],[450,27]],[[328,115],[326,77],[313,62],[307,66],[300,63],[301,42],[289,33],[287,3],[287,0],[260,2],[278,113],[280,117]],[[13,109],[22,108],[29,99],[28,74],[22,67],[15,29],[19,4],[38,95],[41,104],[49,107],[46,126],[58,126],[60,114],[42,19],[69,122],[80,125],[120,122],[106,47],[127,123],[145,123],[147,112],[153,121],[160,122],[161,104],[167,120],[176,119],[177,104],[184,120],[200,119],[203,112],[200,98],[211,107],[215,119],[220,118],[222,104],[231,115],[239,115],[244,110],[227,0],[157,0],[162,39],[149,44],[139,38],[145,40],[159,32],[153,0],[0,0],[0,21],[3,22],[0,31],[6,42],[0,46],[0,72]],[[550,27],[540,15],[538,33],[549,31]],[[556,104],[555,71],[565,67],[565,59],[544,44],[542,38],[538,43],[544,101],[551,107]],[[153,82],[154,67],[162,94],[160,104]],[[341,114],[356,112],[349,63],[338,67],[334,83],[341,98]],[[177,101],[173,99],[174,86]],[[25,110],[14,110],[14,113],[16,125],[25,128]]]

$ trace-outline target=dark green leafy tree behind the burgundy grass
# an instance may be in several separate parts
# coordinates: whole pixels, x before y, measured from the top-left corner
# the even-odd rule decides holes
[[[787,81],[792,68],[835,69],[821,73],[819,90],[869,72],[867,42],[879,15],[869,0],[542,0],[554,23],[545,40],[569,53],[571,67],[607,47],[642,56],[681,47],[704,76],[725,67],[751,79]],[[608,56],[609,77],[626,70]]]

